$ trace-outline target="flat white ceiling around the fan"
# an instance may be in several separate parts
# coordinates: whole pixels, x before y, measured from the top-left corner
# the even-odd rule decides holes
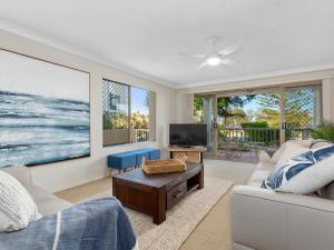
[[[0,0],[0,18],[175,88],[334,66],[333,0]],[[196,70],[207,37],[234,66]]]

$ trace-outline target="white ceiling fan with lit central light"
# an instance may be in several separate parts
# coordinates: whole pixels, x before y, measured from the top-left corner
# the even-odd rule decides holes
[[[223,39],[220,37],[207,38],[206,42],[210,48],[210,52],[206,54],[189,54],[189,53],[179,53],[179,54],[190,57],[190,58],[196,58],[196,59],[203,59],[203,62],[196,68],[196,70],[199,70],[206,66],[219,66],[219,64],[230,66],[235,63],[235,61],[228,58],[228,56],[237,52],[242,47],[242,42],[240,40],[237,40],[230,46],[225,47],[224,49],[218,49]]]

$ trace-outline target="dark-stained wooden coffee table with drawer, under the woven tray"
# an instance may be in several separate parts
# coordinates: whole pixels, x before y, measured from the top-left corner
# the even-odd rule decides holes
[[[166,220],[166,210],[204,187],[203,163],[187,163],[187,171],[147,174],[140,168],[112,177],[112,194],[125,207],[153,216],[153,222]]]

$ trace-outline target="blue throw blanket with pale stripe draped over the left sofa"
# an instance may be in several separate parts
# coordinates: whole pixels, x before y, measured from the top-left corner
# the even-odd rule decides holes
[[[136,236],[114,198],[89,201],[0,233],[0,250],[132,250]]]

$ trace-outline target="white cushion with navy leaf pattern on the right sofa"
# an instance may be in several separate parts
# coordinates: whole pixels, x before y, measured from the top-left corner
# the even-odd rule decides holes
[[[334,146],[312,149],[277,166],[262,188],[307,194],[334,180]]]

